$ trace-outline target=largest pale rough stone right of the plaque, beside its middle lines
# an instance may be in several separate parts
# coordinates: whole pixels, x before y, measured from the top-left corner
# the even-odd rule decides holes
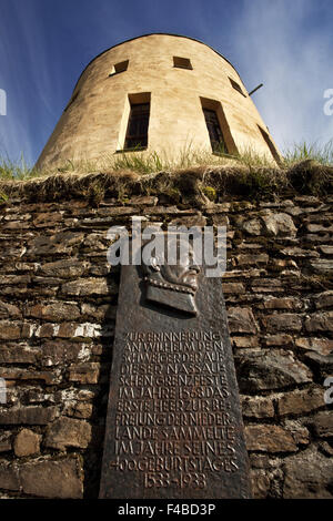
[[[243,357],[238,367],[242,392],[281,389],[312,381],[310,369],[292,351],[268,351]]]

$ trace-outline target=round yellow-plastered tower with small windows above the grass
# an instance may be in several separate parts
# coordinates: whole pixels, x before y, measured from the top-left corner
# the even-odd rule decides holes
[[[37,167],[120,153],[175,157],[189,147],[280,157],[225,58],[192,38],[147,34],[87,65]]]

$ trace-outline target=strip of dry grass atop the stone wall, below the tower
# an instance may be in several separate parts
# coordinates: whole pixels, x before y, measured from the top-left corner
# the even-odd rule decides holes
[[[124,204],[131,195],[163,195],[176,204],[206,204],[226,195],[272,197],[282,192],[326,194],[333,184],[333,141],[324,147],[295,145],[281,164],[253,153],[213,155],[188,150],[176,162],[157,153],[114,154],[104,163],[73,163],[38,172],[0,159],[0,202],[12,197],[61,201],[105,196]]]

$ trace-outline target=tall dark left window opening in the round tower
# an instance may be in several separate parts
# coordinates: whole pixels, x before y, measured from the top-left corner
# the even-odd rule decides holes
[[[150,103],[131,105],[124,149],[141,150],[148,146]]]

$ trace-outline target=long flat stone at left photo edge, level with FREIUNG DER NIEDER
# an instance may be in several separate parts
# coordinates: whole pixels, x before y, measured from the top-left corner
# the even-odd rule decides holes
[[[0,412],[0,425],[47,425],[56,415],[56,407],[11,408]]]

